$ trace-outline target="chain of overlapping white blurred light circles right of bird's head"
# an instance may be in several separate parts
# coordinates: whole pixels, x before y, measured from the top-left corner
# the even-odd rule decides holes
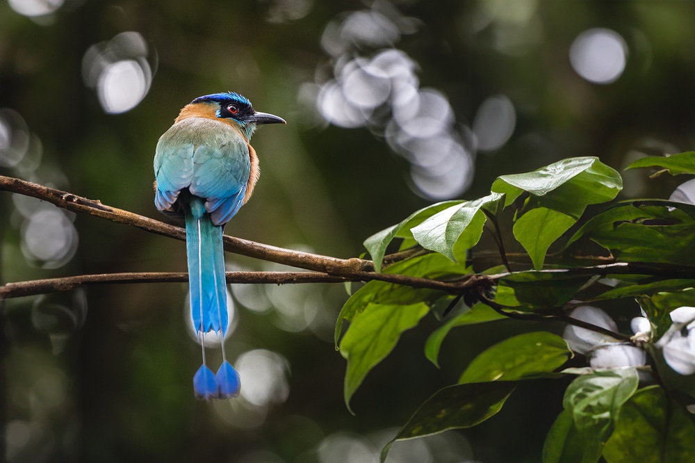
[[[381,6],[377,2],[327,24],[321,44],[332,57],[332,75],[320,67],[300,100],[314,97],[316,112],[329,124],[366,127],[384,136],[393,152],[411,164],[409,185],[418,195],[458,197],[473,179],[472,143],[465,140],[471,130],[457,124],[442,92],[420,87],[418,64],[395,48],[401,35],[417,30],[414,22]],[[509,111],[503,117],[509,120]],[[514,121],[512,131],[513,126]],[[504,140],[496,142],[500,146],[511,135],[509,124],[504,130]]]

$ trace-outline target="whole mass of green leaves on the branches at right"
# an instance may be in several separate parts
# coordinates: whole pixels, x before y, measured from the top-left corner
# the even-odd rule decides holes
[[[660,166],[671,173],[691,172],[692,157],[692,153],[684,153],[668,159],[641,159],[630,168]],[[472,256],[475,266],[483,225],[487,222],[497,228],[504,214],[513,215],[512,234],[497,229],[495,239],[500,234],[506,239],[513,235],[528,253],[530,264],[528,260],[516,262],[512,273],[498,266],[478,272],[481,277],[491,275],[487,284],[465,289],[461,297],[466,307],[442,320],[425,343],[426,357],[437,366],[443,341],[454,327],[506,316],[530,320],[550,317],[580,324],[566,314],[582,302],[634,300],[639,304],[634,307],[641,307],[652,327],[651,333],[642,332],[637,339],[610,332],[600,320],[580,324],[580,330],[587,332],[603,329],[601,343],[589,352],[580,350],[589,359],[609,352],[612,346],[616,347],[614,352],[634,352],[636,346],[638,352],[642,349],[655,354],[656,362],[634,364],[635,360],[626,357],[611,368],[599,362],[602,369],[574,367],[564,374],[557,369],[573,357],[573,351],[560,336],[547,331],[509,336],[477,355],[461,373],[459,384],[445,387],[425,401],[393,441],[477,425],[500,411],[514,390],[514,381],[578,375],[565,391],[564,411],[548,432],[544,462],[594,463],[602,454],[609,462],[642,461],[638,455],[654,462],[692,457],[695,432],[683,404],[693,403],[695,397],[683,402],[679,396],[679,402],[669,396],[674,388],[692,391],[692,382],[688,386],[686,376],[664,384],[666,389],[648,384],[656,377],[673,377],[659,353],[661,346],[657,346],[671,326],[671,311],[695,306],[694,208],[642,200],[608,204],[593,216],[585,213],[590,204],[613,200],[621,188],[618,172],[598,159],[566,159],[527,174],[499,177],[489,196],[435,204],[368,238],[365,245],[377,267],[386,246],[397,237],[414,239],[432,251],[393,263],[384,272],[452,280],[472,273],[463,258]],[[523,201],[517,200],[521,197]],[[566,234],[569,229],[575,230],[573,234]],[[559,251],[548,254],[550,245],[566,235]],[[584,257],[582,249],[590,241],[603,247],[605,255]],[[499,250],[502,252],[501,245]],[[504,261],[502,256],[500,260]],[[630,262],[635,264],[626,264]],[[483,303],[474,304],[477,298]],[[452,303],[452,296],[439,291],[382,282],[370,282],[352,295],[336,326],[337,342],[343,319],[351,322],[341,342],[343,356],[348,359],[346,403],[369,371],[393,350],[400,333],[415,327],[432,307]],[[686,330],[685,325],[678,326]],[[613,344],[611,333],[616,339]],[[632,346],[624,350],[621,346],[625,344],[619,340],[627,339]],[[593,352],[598,347],[603,350]],[[638,389],[638,369],[644,375],[642,389]],[[382,460],[393,441],[384,448]],[[630,452],[623,453],[628,447]]]

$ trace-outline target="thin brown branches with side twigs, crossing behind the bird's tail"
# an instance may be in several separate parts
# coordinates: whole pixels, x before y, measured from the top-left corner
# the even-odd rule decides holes
[[[69,211],[89,213],[92,216],[106,218],[113,222],[119,222],[133,227],[138,227],[147,232],[169,236],[181,241],[186,240],[186,231],[180,227],[167,225],[158,220],[139,216],[136,213],[116,209],[111,206],[101,204],[99,201],[88,200],[87,198],[73,195],[65,191],[48,188],[46,186],[33,184],[28,181],[14,179],[12,177],[0,176],[0,190],[7,190],[13,193],[36,197],[55,204],[58,207]],[[497,275],[470,274],[459,277],[455,280],[441,281],[430,278],[409,277],[407,275],[397,275],[391,273],[375,273],[373,263],[363,259],[336,259],[334,257],[311,254],[287,250],[281,247],[263,245],[253,241],[224,236],[225,249],[237,254],[242,254],[256,259],[283,263],[288,266],[313,270],[311,272],[229,272],[227,273],[228,283],[318,283],[318,282],[369,282],[379,280],[393,284],[402,284],[414,288],[425,288],[443,291],[453,295],[462,295],[468,291],[477,290],[480,294],[495,284],[498,279],[532,273],[535,270],[523,270],[520,272],[507,272]],[[500,252],[506,257],[505,251],[500,245]],[[427,253],[425,250],[413,249],[399,252],[384,258],[385,262],[396,262]],[[506,263],[506,262],[505,262]],[[509,264],[506,263],[507,268]],[[655,263],[607,263],[605,265],[568,268],[568,269],[547,269],[539,270],[538,273],[564,274],[564,275],[612,275],[612,274],[638,274],[638,275],[660,275],[668,278],[695,278],[695,268],[692,266],[674,266],[668,264]],[[23,295],[34,295],[49,293],[53,291],[69,291],[76,286],[83,284],[124,284],[124,283],[143,283],[143,282],[186,282],[186,273],[113,273],[104,275],[79,275],[74,277],[64,277],[55,279],[42,279],[31,282],[8,283],[0,286],[0,299],[16,298]],[[494,302],[487,301],[491,304]],[[546,316],[543,314],[515,314],[508,310],[509,307],[494,307],[499,309],[507,316],[523,319],[544,319],[560,320],[565,323],[573,323],[578,326],[587,327],[590,330],[602,332],[600,327],[589,326],[585,323],[575,322],[574,319],[554,315]],[[505,310],[506,309],[506,310]],[[540,317],[540,318],[539,318]],[[603,331],[605,332],[605,331]],[[620,338],[621,334],[612,334]]]

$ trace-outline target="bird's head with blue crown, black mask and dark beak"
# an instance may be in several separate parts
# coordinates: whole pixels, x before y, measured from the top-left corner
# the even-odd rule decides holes
[[[212,95],[197,97],[186,108],[188,108],[187,113],[190,116],[215,117],[232,124],[236,122],[247,139],[251,138],[256,126],[261,124],[286,124],[282,117],[254,110],[247,97],[233,92],[213,93]],[[181,111],[179,119],[181,116],[183,116],[183,111]]]

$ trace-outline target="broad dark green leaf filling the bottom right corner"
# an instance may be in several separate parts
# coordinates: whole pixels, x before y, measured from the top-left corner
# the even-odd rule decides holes
[[[608,463],[692,461],[695,425],[660,387],[640,389],[621,408],[603,457]]]

